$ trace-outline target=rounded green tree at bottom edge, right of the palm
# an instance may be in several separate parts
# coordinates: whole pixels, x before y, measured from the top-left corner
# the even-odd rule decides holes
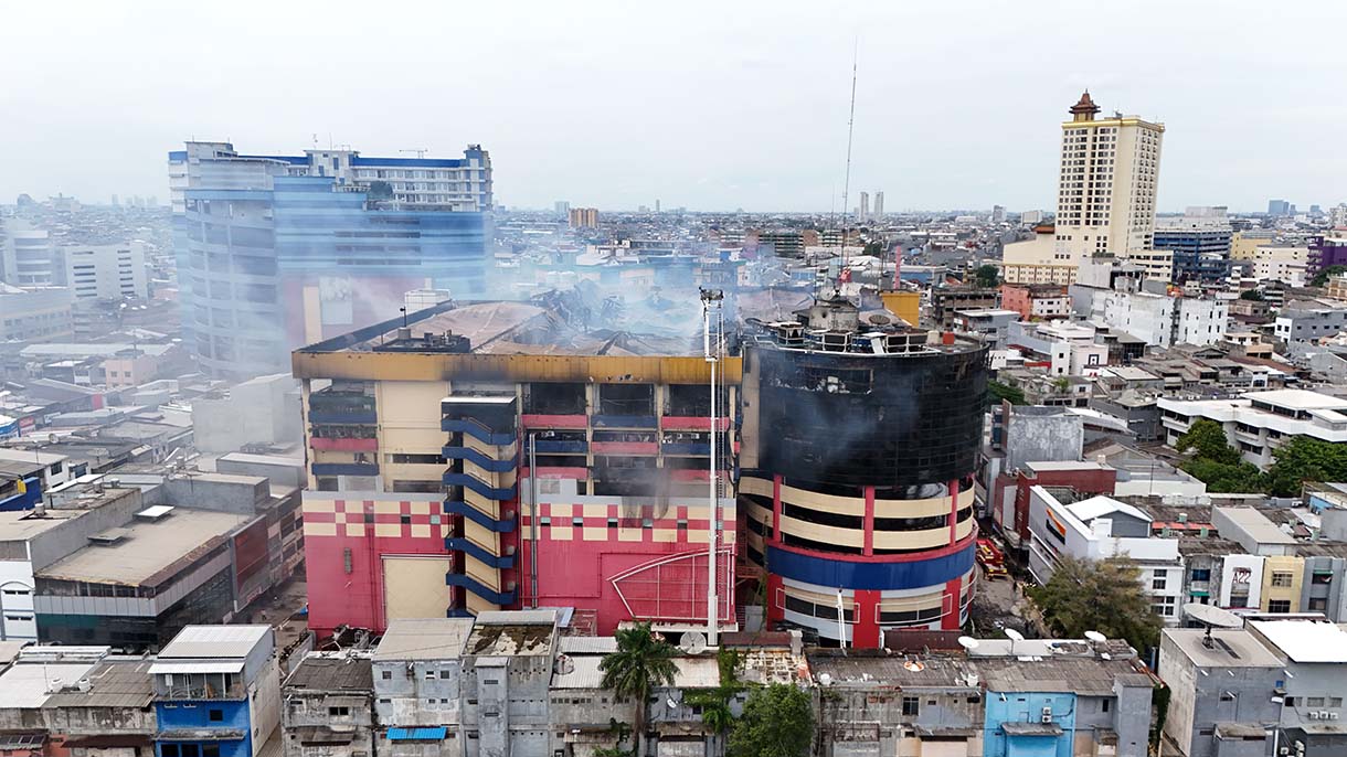
[[[754,688],[730,731],[730,757],[799,757],[814,737],[810,695],[788,683]]]

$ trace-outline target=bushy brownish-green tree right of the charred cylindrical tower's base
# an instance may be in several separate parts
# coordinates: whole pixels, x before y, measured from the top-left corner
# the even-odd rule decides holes
[[[1141,571],[1125,558],[1061,558],[1044,586],[1029,590],[1052,629],[1068,638],[1098,630],[1138,652],[1160,643],[1160,616],[1141,589]]]

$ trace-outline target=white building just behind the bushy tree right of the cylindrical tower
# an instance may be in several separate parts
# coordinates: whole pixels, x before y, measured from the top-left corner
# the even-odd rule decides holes
[[[1052,578],[1063,556],[1125,556],[1141,570],[1138,581],[1156,614],[1167,624],[1179,621],[1184,578],[1179,540],[1150,536],[1150,516],[1140,509],[1105,496],[1064,504],[1043,486],[1033,486],[1029,536],[1029,572],[1039,583]]]

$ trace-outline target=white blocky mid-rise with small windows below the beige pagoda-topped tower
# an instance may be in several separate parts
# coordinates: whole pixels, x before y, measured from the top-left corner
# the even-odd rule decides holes
[[[1226,333],[1228,310],[1216,299],[1110,291],[1094,298],[1091,317],[1152,346],[1206,346]]]

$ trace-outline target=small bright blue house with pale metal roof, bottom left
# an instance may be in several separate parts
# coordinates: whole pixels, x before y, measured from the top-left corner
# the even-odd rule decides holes
[[[189,625],[150,668],[156,757],[255,757],[280,722],[267,625]]]

